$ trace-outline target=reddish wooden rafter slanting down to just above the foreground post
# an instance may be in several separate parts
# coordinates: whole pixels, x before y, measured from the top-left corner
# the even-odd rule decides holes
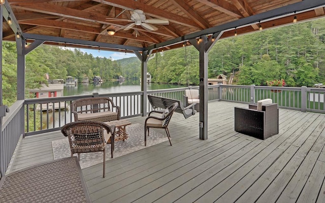
[[[201,28],[206,29],[212,27],[208,21],[201,17],[196,11],[194,11],[190,6],[188,6],[184,1],[169,0],[177,8],[183,11],[188,17],[194,20]]]

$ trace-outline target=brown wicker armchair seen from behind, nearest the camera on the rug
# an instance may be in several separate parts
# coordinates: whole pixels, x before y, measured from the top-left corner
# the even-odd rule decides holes
[[[103,152],[103,178],[105,178],[105,148],[111,144],[111,157],[114,152],[115,126],[98,121],[75,121],[61,128],[63,136],[69,138],[71,156],[87,152]]]

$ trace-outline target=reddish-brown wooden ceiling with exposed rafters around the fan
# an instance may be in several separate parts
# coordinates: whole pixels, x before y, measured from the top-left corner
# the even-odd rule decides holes
[[[165,45],[168,49],[189,38],[211,37],[220,29],[219,37],[226,38],[235,29],[241,35],[258,31],[259,25],[266,29],[293,23],[295,15],[298,21],[322,17],[324,4],[320,0],[8,0],[3,39],[15,41],[19,31],[27,42],[42,38],[46,44],[80,48],[143,50]],[[157,30],[140,25],[124,30],[136,9],[144,11],[146,19],[167,19],[169,24],[152,24]],[[114,29],[115,35],[108,35],[107,29]]]

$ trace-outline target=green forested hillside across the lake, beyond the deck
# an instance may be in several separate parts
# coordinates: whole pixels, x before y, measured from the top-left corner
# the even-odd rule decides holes
[[[15,43],[4,42],[4,104],[16,99],[16,58]],[[284,80],[291,87],[325,83],[325,18],[219,40],[209,52],[208,71],[209,78],[235,74],[233,84],[240,85],[267,85],[273,80]],[[193,46],[154,52],[148,72],[156,83],[198,85],[199,52]],[[113,60],[80,49],[41,45],[26,55],[26,97],[28,89],[47,82],[46,74],[50,79],[139,80],[141,62],[137,57]]]

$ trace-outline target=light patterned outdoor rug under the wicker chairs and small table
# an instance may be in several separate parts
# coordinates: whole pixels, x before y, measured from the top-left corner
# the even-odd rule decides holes
[[[128,133],[128,139],[123,141],[115,141],[114,148],[114,158],[123,156],[125,154],[144,149],[165,141],[168,141],[165,131],[159,131],[159,133],[153,129],[150,129],[150,136],[147,137],[147,146],[144,146],[144,125],[140,123],[131,124],[126,126],[126,132]],[[63,136],[62,136],[63,137]],[[70,157],[70,146],[67,137],[64,139],[52,141],[52,148],[54,153],[54,159],[59,159],[63,157]],[[111,158],[111,145],[106,146],[106,160]],[[77,156],[77,154],[74,154]],[[80,166],[81,168],[86,168],[98,163],[103,162],[103,152],[91,152],[91,153],[81,153],[80,156]]]

